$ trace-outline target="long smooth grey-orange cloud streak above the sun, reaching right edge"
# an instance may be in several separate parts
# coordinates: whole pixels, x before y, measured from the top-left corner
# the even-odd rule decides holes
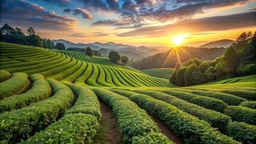
[[[195,33],[207,31],[225,31],[255,27],[256,11],[229,16],[206,17],[202,19],[184,20],[165,26],[147,26],[133,31],[118,34],[120,37],[168,37],[170,34]]]

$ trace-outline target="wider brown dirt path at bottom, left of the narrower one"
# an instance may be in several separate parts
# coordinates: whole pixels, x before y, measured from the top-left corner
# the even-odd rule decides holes
[[[112,109],[107,104],[100,101],[100,112],[102,113],[102,121],[94,137],[94,142],[97,144],[121,144],[123,135],[118,127],[117,118]]]

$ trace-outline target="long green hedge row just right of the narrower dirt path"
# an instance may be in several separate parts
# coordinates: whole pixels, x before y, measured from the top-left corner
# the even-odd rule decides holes
[[[157,116],[175,134],[183,136],[184,143],[239,143],[212,128],[207,122],[183,112],[171,104],[148,95],[124,91],[130,100]]]

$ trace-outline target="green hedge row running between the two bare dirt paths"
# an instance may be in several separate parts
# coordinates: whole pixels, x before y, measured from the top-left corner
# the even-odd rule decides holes
[[[103,88],[91,88],[96,95],[109,106],[117,115],[118,125],[123,133],[123,140],[126,143],[159,142],[172,143],[163,134],[145,110],[140,109],[128,98],[115,94]]]

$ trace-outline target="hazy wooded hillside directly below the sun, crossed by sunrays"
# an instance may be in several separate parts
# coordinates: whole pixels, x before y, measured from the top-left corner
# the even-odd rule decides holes
[[[184,62],[190,58],[212,61],[224,54],[226,48],[198,48],[198,47],[173,47],[166,52],[157,53],[147,58],[130,61],[129,65],[139,70],[149,68],[174,68],[177,62]]]

